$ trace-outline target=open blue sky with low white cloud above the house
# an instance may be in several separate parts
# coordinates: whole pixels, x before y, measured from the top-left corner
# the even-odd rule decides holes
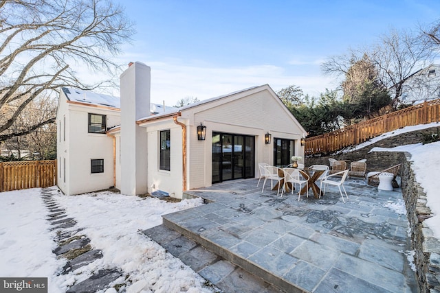
[[[119,58],[150,66],[151,100],[168,106],[261,84],[317,96],[338,86],[320,71],[329,56],[440,19],[438,0],[116,1],[137,31]]]

